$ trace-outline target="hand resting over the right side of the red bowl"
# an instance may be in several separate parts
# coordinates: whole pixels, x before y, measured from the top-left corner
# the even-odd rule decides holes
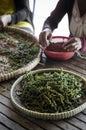
[[[82,47],[82,44],[81,44],[81,40],[80,38],[71,38],[70,40],[68,40],[67,43],[65,43],[63,45],[63,48],[66,49],[67,51],[78,51],[80,50]]]

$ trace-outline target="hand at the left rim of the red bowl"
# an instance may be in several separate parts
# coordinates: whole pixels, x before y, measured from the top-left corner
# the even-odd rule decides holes
[[[51,37],[51,30],[48,28],[44,29],[39,35],[39,44],[42,45],[42,47],[47,47],[49,45]]]

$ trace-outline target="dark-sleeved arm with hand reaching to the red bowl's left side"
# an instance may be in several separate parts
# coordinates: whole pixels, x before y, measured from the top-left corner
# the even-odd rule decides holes
[[[50,36],[52,36],[52,32],[54,31],[55,28],[58,27],[58,23],[61,21],[61,19],[67,12],[66,6],[67,6],[66,0],[60,0],[57,3],[56,8],[51,12],[50,16],[45,20],[43,29],[39,35],[39,43],[41,45],[44,46],[45,43],[46,46],[48,45],[48,42],[51,39]]]

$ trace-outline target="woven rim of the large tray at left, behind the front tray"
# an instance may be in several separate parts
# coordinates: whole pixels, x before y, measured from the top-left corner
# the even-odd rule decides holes
[[[19,34],[20,36],[22,36],[22,38],[24,39],[25,37],[27,37],[28,39],[32,39],[32,42],[34,42],[35,44],[38,44],[38,40],[37,38],[30,34],[30,33],[27,33],[23,30],[19,30],[17,28],[11,28],[11,27],[5,27],[3,28],[3,31],[6,31],[6,32],[14,32],[15,34]],[[29,43],[28,43],[29,44]],[[8,80],[8,79],[11,79],[11,78],[14,78],[26,71],[30,71],[31,69],[33,69],[40,61],[40,50],[38,52],[38,55],[36,58],[34,58],[33,60],[31,60],[27,65],[25,65],[24,67],[21,67],[17,70],[13,70],[12,72],[8,72],[8,73],[4,73],[2,75],[0,75],[0,81],[4,81],[4,80]]]

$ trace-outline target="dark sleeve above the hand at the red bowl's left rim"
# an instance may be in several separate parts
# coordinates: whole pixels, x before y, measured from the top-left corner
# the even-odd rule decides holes
[[[49,27],[52,31],[57,28],[58,23],[67,12],[67,3],[65,0],[59,0],[55,9],[51,12],[50,16],[44,22],[43,29]]]

